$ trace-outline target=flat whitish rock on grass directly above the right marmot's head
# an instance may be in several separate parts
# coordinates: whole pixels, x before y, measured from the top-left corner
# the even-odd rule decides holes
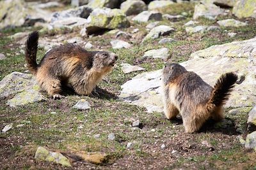
[[[170,57],[170,50],[168,48],[160,48],[158,50],[148,50],[143,57],[153,57],[166,60]]]

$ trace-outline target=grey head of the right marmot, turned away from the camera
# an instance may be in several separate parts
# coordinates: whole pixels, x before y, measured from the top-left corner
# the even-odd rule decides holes
[[[164,82],[164,85],[166,85],[170,81],[175,80],[175,78],[177,78],[177,76],[179,76],[180,74],[183,74],[186,72],[187,70],[184,67],[180,66],[180,64],[176,64],[176,63],[166,64],[163,68],[163,74],[162,74],[162,80]]]

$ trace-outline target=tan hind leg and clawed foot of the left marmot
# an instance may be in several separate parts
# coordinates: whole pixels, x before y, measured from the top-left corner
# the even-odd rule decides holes
[[[47,91],[47,93],[53,97],[53,99],[60,99],[64,96],[60,95],[61,92],[61,81],[52,78],[52,77],[46,77],[44,78],[44,82],[42,83],[43,89]]]

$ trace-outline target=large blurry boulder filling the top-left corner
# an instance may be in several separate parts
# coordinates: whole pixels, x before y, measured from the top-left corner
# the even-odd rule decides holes
[[[19,27],[22,25],[33,25],[35,22],[45,22],[47,13],[42,15],[41,11],[35,11],[22,0],[0,1],[0,29],[5,27]]]

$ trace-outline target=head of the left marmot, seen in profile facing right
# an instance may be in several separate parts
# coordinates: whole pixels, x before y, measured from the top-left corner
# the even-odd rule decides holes
[[[98,69],[98,72],[110,72],[115,66],[117,55],[112,52],[96,52],[93,56],[93,67]]]

